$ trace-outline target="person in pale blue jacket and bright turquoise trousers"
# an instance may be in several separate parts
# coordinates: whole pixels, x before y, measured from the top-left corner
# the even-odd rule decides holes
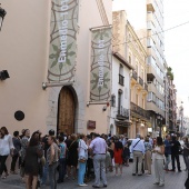
[[[86,163],[88,159],[88,145],[86,145],[87,137],[80,135],[79,147],[78,147],[78,185],[80,187],[87,187],[84,183]]]

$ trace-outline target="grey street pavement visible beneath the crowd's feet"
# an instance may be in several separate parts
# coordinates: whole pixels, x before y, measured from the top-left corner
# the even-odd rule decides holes
[[[115,176],[115,172],[108,172],[108,189],[185,189],[185,181],[187,179],[187,171],[185,171],[185,165],[182,156],[180,156],[182,172],[168,172],[165,173],[165,187],[155,186],[155,171],[152,165],[152,176],[132,176],[132,162],[129,167],[123,167],[122,176]],[[171,166],[169,165],[169,168]],[[84,189],[92,189],[92,181],[88,182],[88,187]],[[7,179],[0,180],[0,189],[23,189],[24,183],[21,181],[18,175],[10,175]],[[49,187],[41,187],[41,189],[48,189]],[[63,183],[58,185],[58,189],[79,189],[77,180],[64,180]]]

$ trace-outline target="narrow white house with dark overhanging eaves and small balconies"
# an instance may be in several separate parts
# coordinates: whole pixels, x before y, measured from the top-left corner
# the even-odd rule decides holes
[[[112,57],[111,135],[130,137],[130,73],[133,68],[118,52]]]

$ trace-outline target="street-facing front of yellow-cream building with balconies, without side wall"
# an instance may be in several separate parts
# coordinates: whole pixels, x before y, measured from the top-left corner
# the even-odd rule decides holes
[[[131,136],[135,138],[137,133],[140,133],[146,137],[151,128],[150,115],[147,111],[147,49],[142,46],[129,21],[127,21],[126,32],[128,39],[126,42],[127,60],[135,68],[130,82]]]

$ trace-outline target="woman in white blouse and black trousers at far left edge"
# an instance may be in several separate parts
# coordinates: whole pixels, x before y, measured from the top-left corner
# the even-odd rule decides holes
[[[6,175],[3,179],[7,178],[8,170],[6,166],[6,160],[9,155],[13,155],[13,142],[12,142],[12,137],[9,135],[8,130],[6,127],[2,127],[0,129],[0,177],[2,176],[2,172],[4,171]]]

